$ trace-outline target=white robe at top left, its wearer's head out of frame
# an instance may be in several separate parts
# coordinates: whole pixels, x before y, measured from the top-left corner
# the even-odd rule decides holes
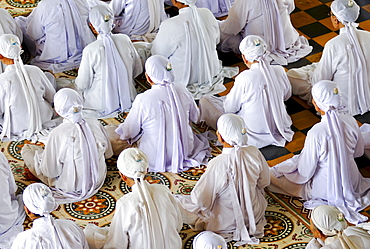
[[[88,15],[86,0],[43,0],[27,18],[18,17],[24,42],[35,56],[31,64],[55,73],[78,68],[82,50],[95,40]]]

